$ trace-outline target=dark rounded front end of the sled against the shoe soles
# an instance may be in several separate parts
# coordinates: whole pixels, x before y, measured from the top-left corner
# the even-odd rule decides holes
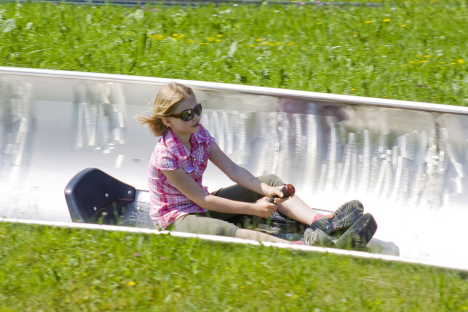
[[[377,230],[377,223],[371,214],[365,214],[354,222],[351,227],[335,243],[340,249],[360,249],[366,247]]]

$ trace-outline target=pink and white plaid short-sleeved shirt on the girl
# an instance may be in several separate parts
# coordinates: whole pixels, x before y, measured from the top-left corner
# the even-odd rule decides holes
[[[201,208],[182,192],[174,187],[162,174],[161,170],[175,170],[183,168],[185,172],[200,186],[205,172],[210,148],[215,139],[202,125],[198,132],[191,134],[191,153],[180,139],[169,128],[156,144],[148,168],[148,185],[150,189],[151,209],[150,218],[156,228],[165,229],[176,219],[192,213],[203,213]],[[203,187],[209,194],[208,187]]]

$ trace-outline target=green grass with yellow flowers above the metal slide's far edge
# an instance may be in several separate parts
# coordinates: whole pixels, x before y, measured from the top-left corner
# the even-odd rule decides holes
[[[0,3],[3,66],[468,103],[463,0],[372,8]]]

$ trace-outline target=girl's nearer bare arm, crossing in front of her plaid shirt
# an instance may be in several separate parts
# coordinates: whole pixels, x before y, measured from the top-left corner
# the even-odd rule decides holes
[[[256,203],[245,203],[234,201],[219,196],[206,194],[182,168],[176,170],[161,171],[167,179],[198,206],[211,211],[218,211],[228,214],[253,215],[267,218],[278,208],[276,204],[269,203],[264,197]],[[281,199],[276,199],[275,203],[280,203]]]

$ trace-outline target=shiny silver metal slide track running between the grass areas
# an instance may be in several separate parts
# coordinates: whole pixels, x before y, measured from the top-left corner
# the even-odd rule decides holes
[[[157,138],[135,116],[169,81],[194,88],[202,124],[253,174],[314,208],[359,199],[399,259],[468,269],[468,109],[430,103],[0,67],[0,218],[71,222],[63,190],[87,167],[148,189]],[[232,183],[209,165],[204,184]]]

